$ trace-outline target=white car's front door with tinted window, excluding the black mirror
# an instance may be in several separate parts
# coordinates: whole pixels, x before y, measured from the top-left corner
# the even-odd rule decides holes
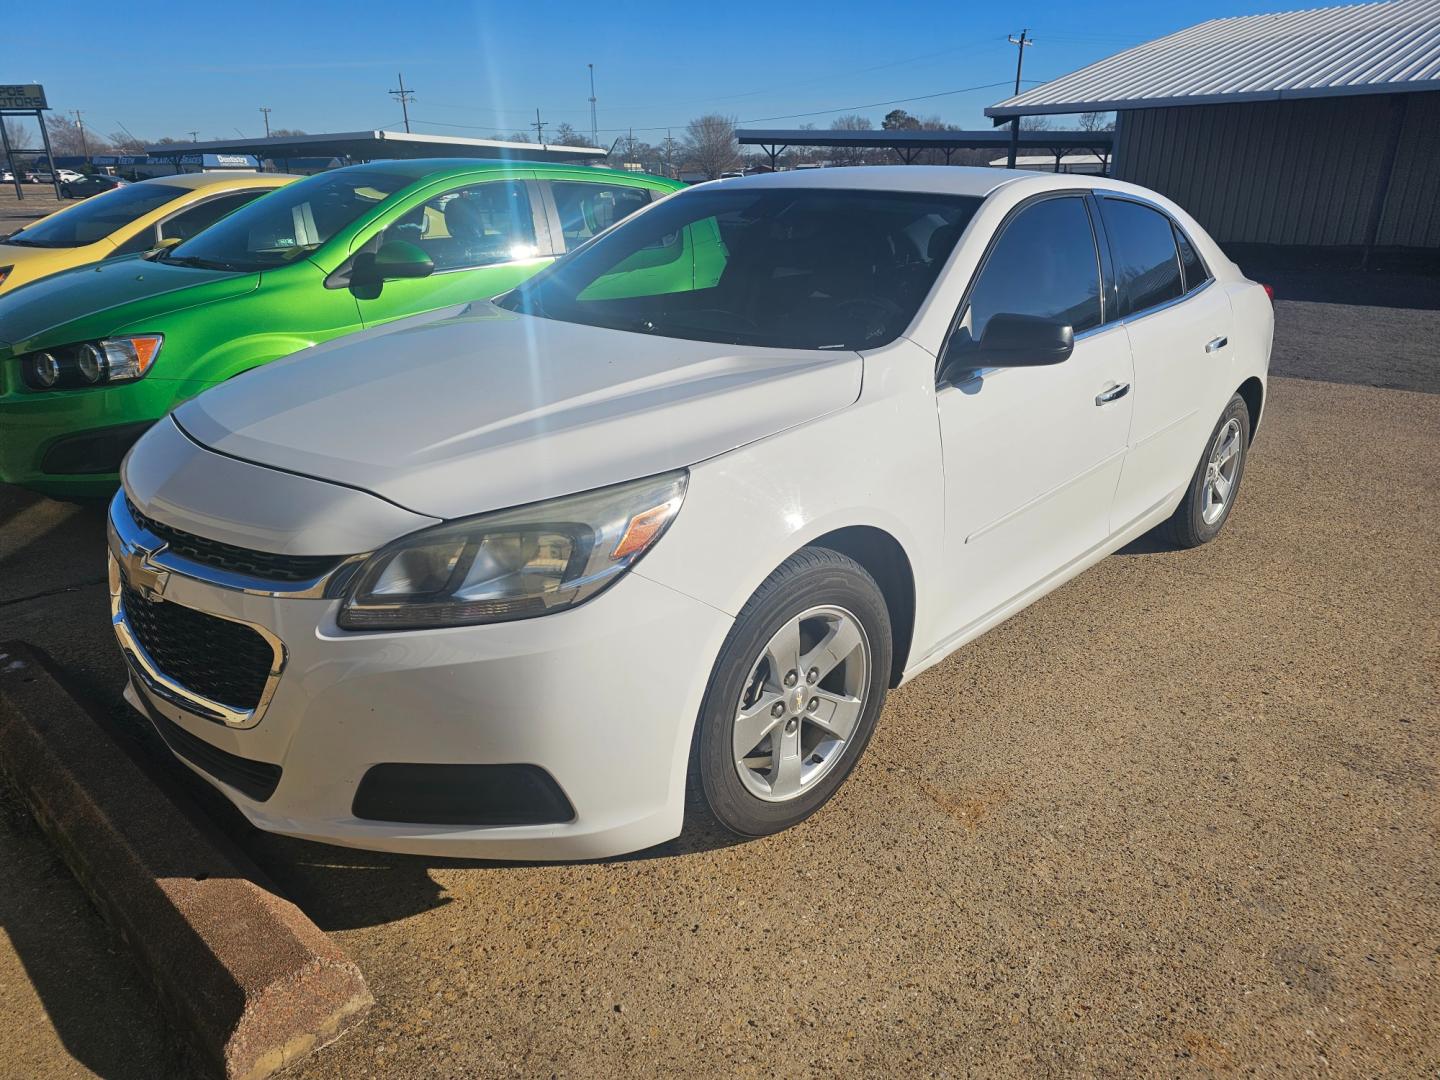
[[[937,393],[950,636],[1001,613],[1110,534],[1133,379],[1125,328],[1104,324],[1096,233],[1079,194],[1043,197],[1002,228],[952,348],[996,314],[1074,328],[1068,360],[979,369]]]

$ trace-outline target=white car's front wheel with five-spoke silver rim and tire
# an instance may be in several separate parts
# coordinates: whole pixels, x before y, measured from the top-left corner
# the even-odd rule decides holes
[[[890,684],[890,613],[857,562],[806,547],[746,602],[716,660],[691,786],[744,837],[789,828],[844,783]]]

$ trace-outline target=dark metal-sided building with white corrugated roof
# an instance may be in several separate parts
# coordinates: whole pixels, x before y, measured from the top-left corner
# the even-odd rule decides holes
[[[1440,0],[1214,19],[985,112],[1110,109],[1113,176],[1223,243],[1440,249]]]

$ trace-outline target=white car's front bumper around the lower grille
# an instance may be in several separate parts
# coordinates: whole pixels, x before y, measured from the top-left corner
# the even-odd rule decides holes
[[[632,573],[537,619],[356,634],[337,628],[337,599],[258,595],[171,570],[164,603],[251,624],[282,657],[262,708],[215,717],[134,652],[122,586],[135,552],[117,536],[117,517],[128,520],[122,498],[111,510],[111,593],[131,661],[125,697],[256,827],[361,848],[526,860],[616,855],[680,834],[691,729],[727,615]],[[539,766],[573,816],[484,827],[357,816],[361,779],[387,763]]]

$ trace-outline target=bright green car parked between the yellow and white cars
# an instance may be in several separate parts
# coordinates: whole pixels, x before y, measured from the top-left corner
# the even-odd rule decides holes
[[[517,285],[681,184],[523,161],[297,180],[158,253],[0,295],[0,481],[114,491],[170,409],[301,348]]]

